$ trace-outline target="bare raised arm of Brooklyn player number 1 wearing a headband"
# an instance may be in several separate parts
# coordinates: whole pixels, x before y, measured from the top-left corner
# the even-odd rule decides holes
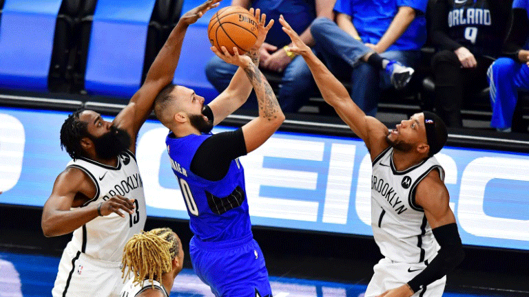
[[[379,120],[367,116],[351,100],[349,92],[340,83],[340,80],[331,74],[329,69],[313,54],[311,48],[303,43],[300,36],[292,30],[289,23],[282,16],[279,22],[283,26],[283,31],[289,35],[294,45],[289,50],[300,54],[305,59],[325,102],[334,107],[336,113],[340,115],[340,118],[351,127],[351,130],[358,137],[364,140],[371,153],[371,157],[376,157],[388,146],[386,143],[386,135],[388,135],[387,127]]]

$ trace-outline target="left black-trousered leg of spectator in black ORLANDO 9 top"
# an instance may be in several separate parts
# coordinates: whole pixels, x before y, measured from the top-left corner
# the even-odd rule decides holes
[[[444,50],[432,58],[435,75],[435,108],[447,126],[461,127],[463,83],[461,63],[454,52]]]

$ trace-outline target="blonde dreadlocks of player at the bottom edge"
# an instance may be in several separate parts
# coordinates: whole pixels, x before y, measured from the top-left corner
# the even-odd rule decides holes
[[[178,255],[178,240],[169,228],[156,228],[141,234],[134,234],[125,248],[121,261],[121,277],[132,272],[134,283],[148,279],[161,283],[162,274],[172,270],[172,260]],[[125,274],[125,270],[127,269]]]

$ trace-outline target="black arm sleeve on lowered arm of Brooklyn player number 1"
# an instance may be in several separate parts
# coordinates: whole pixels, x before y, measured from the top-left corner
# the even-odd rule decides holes
[[[441,249],[421,273],[408,281],[413,292],[419,291],[422,286],[429,285],[452,272],[465,257],[456,223],[442,225],[433,229],[432,232]]]

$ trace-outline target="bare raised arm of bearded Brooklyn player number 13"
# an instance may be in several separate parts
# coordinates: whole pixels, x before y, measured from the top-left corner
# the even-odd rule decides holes
[[[182,49],[187,28],[200,19],[207,10],[216,8],[218,2],[220,0],[205,1],[180,17],[180,20],[171,34],[169,34],[167,41],[165,41],[158,56],[156,56],[149,68],[145,82],[136,94],[132,96],[127,107],[114,119],[114,125],[118,128],[125,129],[131,135],[131,151],[135,151],[136,135],[152,112],[154,99],[174,78],[174,71],[176,70],[176,65],[178,65],[178,58],[180,57],[180,50]]]

